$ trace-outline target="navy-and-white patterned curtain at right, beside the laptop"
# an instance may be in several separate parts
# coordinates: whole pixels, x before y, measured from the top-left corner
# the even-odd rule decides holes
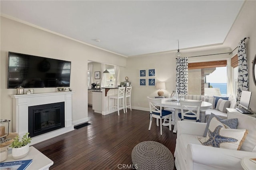
[[[236,104],[240,102],[242,90],[248,91],[248,69],[246,60],[245,40],[241,40],[238,45],[238,85]]]

